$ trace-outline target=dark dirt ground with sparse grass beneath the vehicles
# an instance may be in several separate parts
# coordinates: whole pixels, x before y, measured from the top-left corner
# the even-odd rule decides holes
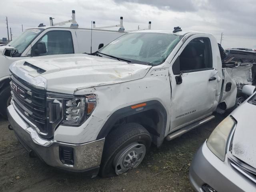
[[[188,170],[193,155],[223,118],[217,115],[160,148],[152,147],[138,168],[104,179],[62,172],[29,158],[14,132],[8,130],[8,121],[0,119],[0,191],[190,192]]]

